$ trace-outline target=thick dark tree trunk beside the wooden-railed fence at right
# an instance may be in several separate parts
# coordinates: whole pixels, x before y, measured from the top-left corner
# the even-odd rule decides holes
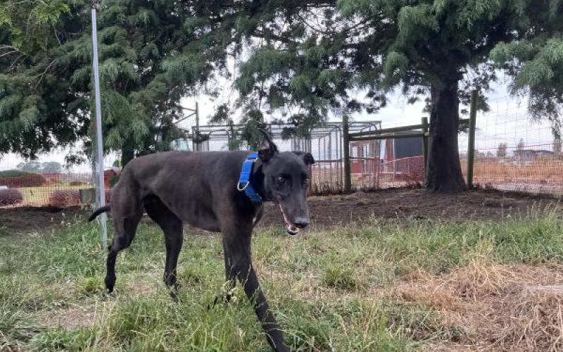
[[[431,87],[429,153],[426,165],[426,189],[457,193],[466,189],[457,147],[460,101],[459,79],[453,75],[443,85]]]

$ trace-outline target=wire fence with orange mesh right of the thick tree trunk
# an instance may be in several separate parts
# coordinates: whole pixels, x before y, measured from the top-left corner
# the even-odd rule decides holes
[[[529,194],[563,195],[562,143],[547,119],[534,120],[526,101],[490,101],[476,119],[474,183]],[[460,140],[467,150],[467,137]],[[462,156],[465,171],[465,159]]]

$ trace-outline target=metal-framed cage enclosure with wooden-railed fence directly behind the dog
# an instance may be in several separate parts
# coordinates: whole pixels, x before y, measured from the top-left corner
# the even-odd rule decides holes
[[[243,125],[205,125],[193,127],[191,135],[203,136],[199,143],[189,139],[175,142],[175,149],[194,151],[246,150],[248,144],[238,136]],[[197,130],[196,130],[197,129]],[[366,140],[345,138],[343,122],[325,122],[305,133],[295,134],[293,125],[270,124],[274,143],[280,150],[312,153],[312,194],[345,191],[345,159],[349,158],[352,189],[374,190],[405,187],[424,182],[423,139],[405,138],[402,132],[384,134],[385,138]],[[405,130],[401,128],[400,130]],[[373,136],[381,130],[381,121],[348,122],[348,134]],[[421,133],[420,128],[411,133]],[[348,156],[345,156],[348,144]]]

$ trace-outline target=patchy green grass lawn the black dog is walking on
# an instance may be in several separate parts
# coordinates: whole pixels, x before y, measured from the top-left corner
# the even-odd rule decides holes
[[[370,220],[298,237],[259,230],[253,256],[296,351],[415,351],[478,344],[472,325],[445,313],[512,292],[502,268],[560,268],[562,230],[555,213],[502,222]],[[0,350],[269,351],[240,287],[231,303],[208,309],[224,293],[217,236],[186,235],[175,304],[160,281],[163,236],[152,225],[141,225],[120,253],[115,296],[103,292],[105,253],[94,225],[68,223],[18,241],[1,231]],[[519,306],[522,321],[536,306]],[[515,325],[510,334],[521,331]]]

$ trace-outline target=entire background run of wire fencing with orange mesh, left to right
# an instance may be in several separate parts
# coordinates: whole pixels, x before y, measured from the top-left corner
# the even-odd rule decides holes
[[[476,119],[474,184],[502,191],[563,196],[562,142],[555,139],[548,121],[533,121],[524,103],[510,97],[491,101],[491,111]],[[274,142],[282,151],[312,153],[311,194],[343,192],[343,151],[350,152],[350,179],[353,190],[371,191],[424,184],[424,156],[421,138],[396,138],[350,142],[343,145],[343,126],[329,122],[315,127],[308,138],[284,137],[288,125],[270,125]],[[384,127],[395,127],[386,125]],[[179,150],[217,151],[248,149],[233,144],[236,126],[203,126],[208,138],[199,145],[177,141]],[[377,130],[379,121],[351,122],[350,133]],[[460,163],[467,172],[467,133],[460,132]],[[0,165],[2,166],[2,165]],[[94,201],[91,172],[23,173],[0,172],[0,207],[73,206]],[[113,180],[113,181],[112,181]],[[106,201],[116,176],[104,173]]]

